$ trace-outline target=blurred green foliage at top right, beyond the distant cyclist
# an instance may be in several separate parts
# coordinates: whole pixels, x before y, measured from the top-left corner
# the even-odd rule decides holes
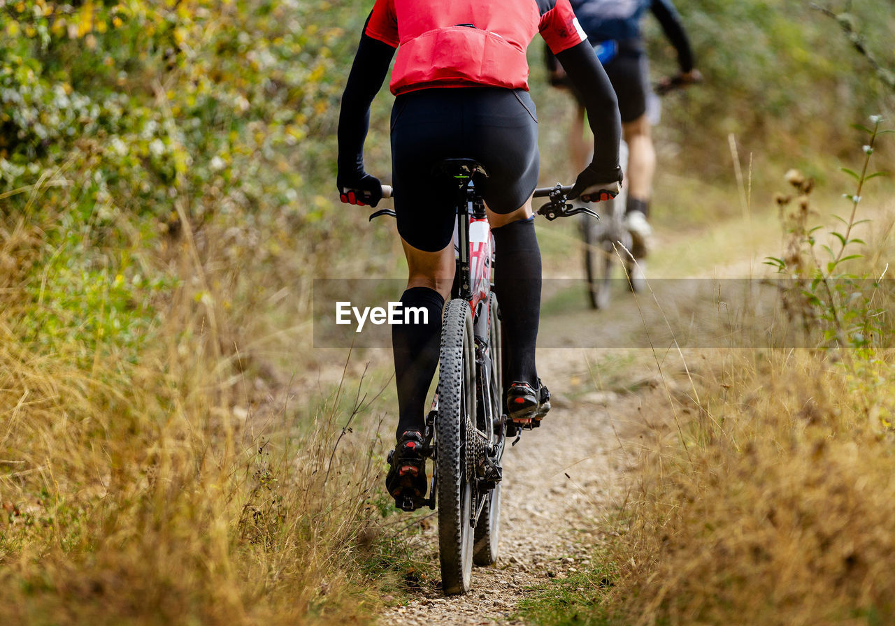
[[[818,2],[844,14],[869,49],[891,58],[895,7],[854,0]],[[705,82],[665,98],[661,133],[685,149],[680,169],[732,178],[728,135],[741,154],[799,165],[847,157],[859,139],[851,125],[891,117],[893,94],[840,25],[808,1],[676,0]],[[644,20],[654,78],[677,72],[658,22]],[[672,165],[672,164],[669,164]],[[814,174],[815,172],[812,171]],[[820,174],[820,172],[817,172]]]

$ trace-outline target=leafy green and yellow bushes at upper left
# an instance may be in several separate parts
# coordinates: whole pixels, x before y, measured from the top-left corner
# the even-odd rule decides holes
[[[177,283],[164,255],[143,253],[187,225],[217,268],[211,295],[247,300],[247,314],[261,295],[253,272],[295,283],[344,249],[320,139],[335,131],[336,59],[356,31],[341,23],[359,28],[354,13],[297,0],[0,0],[0,215],[25,216],[41,250],[14,260],[16,280],[39,285],[26,290],[39,306],[23,336],[45,348],[77,337],[87,357],[114,335],[132,358],[154,294]]]

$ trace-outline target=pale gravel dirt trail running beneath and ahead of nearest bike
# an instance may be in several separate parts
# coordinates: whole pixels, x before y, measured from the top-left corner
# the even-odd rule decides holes
[[[644,414],[648,410],[642,411],[644,403],[654,408],[658,391],[666,397],[655,387],[686,392],[675,336],[669,343],[657,331],[669,318],[686,321],[695,309],[712,309],[712,290],[708,296],[689,289],[655,299],[648,294],[639,302],[619,290],[609,310],[595,312],[584,303],[580,278],[568,284],[573,292],[548,295],[563,304],[542,316],[539,335],[539,345],[552,346],[539,349],[538,368],[554,393],[554,409],[543,427],[524,433],[504,457],[498,563],[474,568],[472,590],[465,596],[446,597],[434,582],[424,584],[407,605],[388,609],[381,623],[522,623],[514,620],[520,601],[585,566],[592,547],[609,531],[606,520],[623,501],[625,472],[635,463],[635,445],[623,440],[633,427],[652,422]],[[654,349],[644,343],[644,319],[655,335]],[[596,349],[601,345],[613,347]],[[601,379],[595,380],[598,360],[603,360],[596,373]],[[437,567],[434,521],[423,531],[419,555]]]

